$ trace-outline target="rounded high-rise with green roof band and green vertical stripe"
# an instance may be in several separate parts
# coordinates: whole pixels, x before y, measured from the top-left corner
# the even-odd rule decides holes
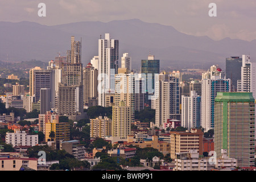
[[[255,100],[251,92],[219,92],[214,106],[214,151],[225,149],[237,166],[254,166]]]

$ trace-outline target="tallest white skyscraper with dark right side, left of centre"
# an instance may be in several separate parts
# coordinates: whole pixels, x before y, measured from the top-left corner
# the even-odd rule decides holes
[[[119,40],[110,38],[98,40],[98,104],[106,105],[105,94],[114,93],[114,75],[118,73]]]

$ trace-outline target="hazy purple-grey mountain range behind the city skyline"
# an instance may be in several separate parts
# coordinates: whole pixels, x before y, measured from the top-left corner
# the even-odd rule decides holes
[[[102,22],[77,22],[46,26],[34,22],[0,22],[0,60],[28,61],[54,60],[66,56],[71,49],[71,36],[82,38],[82,63],[89,63],[98,55],[98,39],[109,33],[119,40],[119,61],[128,52],[132,67],[139,68],[148,54],[160,60],[160,68],[209,68],[218,64],[225,69],[225,59],[230,56],[250,54],[256,60],[256,40],[225,38],[214,41],[207,36],[192,36],[175,30],[172,26],[146,23],[139,19]]]

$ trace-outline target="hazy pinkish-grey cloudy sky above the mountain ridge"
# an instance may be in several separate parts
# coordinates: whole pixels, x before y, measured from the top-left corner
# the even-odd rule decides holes
[[[46,17],[38,4],[46,4]],[[217,16],[210,17],[209,3]],[[109,22],[122,19],[170,25],[180,32],[214,40],[256,39],[255,0],[1,0],[0,21],[23,20],[46,25],[81,21]]]

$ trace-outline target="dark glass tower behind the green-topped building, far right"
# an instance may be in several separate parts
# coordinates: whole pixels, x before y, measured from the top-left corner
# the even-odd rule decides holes
[[[226,58],[226,78],[230,78],[231,91],[237,91],[237,80],[241,80],[242,58]]]

